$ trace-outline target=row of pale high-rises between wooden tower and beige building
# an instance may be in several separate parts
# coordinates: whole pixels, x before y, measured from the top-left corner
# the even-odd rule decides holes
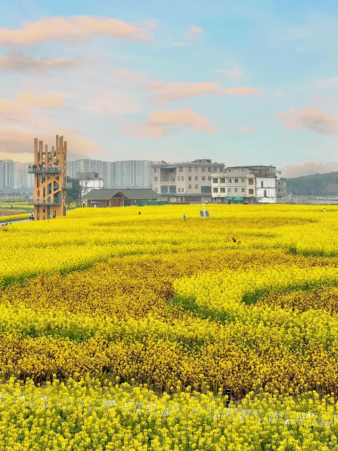
[[[97,172],[105,188],[135,189],[151,187],[151,161],[149,160],[76,160],[67,162],[67,175],[76,178],[79,172]]]

